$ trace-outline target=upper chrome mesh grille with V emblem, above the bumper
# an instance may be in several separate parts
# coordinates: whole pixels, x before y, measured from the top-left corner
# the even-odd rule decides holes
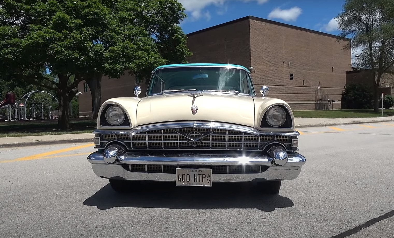
[[[205,135],[205,136],[204,136]],[[193,142],[187,137],[198,138]],[[290,136],[261,135],[226,129],[208,128],[169,128],[162,130],[150,130],[134,135],[130,134],[106,134],[100,136],[103,148],[108,141],[120,139],[130,149],[195,149],[195,150],[259,150],[267,142],[277,141],[286,147],[291,147]]]

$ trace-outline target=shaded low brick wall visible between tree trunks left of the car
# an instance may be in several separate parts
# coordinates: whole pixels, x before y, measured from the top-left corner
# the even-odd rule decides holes
[[[78,85],[78,92],[82,92],[79,97],[79,115],[92,116],[92,98],[90,90],[84,92],[84,83],[82,81]],[[147,92],[147,84],[138,84],[141,87],[139,97],[145,97]],[[134,87],[136,86],[135,77],[125,72],[119,79],[108,79],[102,77],[101,81],[101,103],[112,97],[135,97]]]

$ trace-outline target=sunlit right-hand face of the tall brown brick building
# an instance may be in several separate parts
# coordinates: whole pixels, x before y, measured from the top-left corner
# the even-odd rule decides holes
[[[325,109],[327,99],[337,100],[333,108],[340,108],[346,71],[351,70],[351,52],[343,49],[348,41],[254,19],[250,29],[258,94],[266,85],[269,96],[287,101],[293,110]]]

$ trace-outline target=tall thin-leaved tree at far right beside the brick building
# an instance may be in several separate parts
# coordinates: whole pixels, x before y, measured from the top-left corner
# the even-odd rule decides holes
[[[337,21],[339,36],[352,38],[346,48],[361,48],[359,66],[375,75],[374,111],[378,112],[381,78],[394,66],[394,0],[345,0]]]

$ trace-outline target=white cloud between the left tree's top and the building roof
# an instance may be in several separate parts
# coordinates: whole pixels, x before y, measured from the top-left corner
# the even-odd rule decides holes
[[[210,12],[203,11],[206,7],[214,5],[223,8],[224,4],[230,1],[256,2],[257,4],[268,2],[268,0],[178,0],[186,9],[188,16],[191,16],[192,20],[199,20],[201,18],[209,20],[211,17]],[[226,8],[223,9],[226,10]],[[223,14],[224,12],[219,11],[219,13]]]

